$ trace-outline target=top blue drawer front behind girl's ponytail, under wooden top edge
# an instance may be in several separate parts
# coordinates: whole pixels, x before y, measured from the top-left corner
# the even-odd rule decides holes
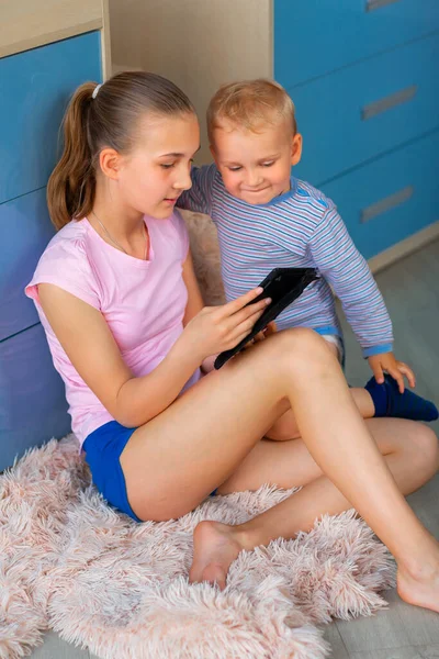
[[[0,60],[0,203],[46,185],[72,91],[100,79],[99,32]]]

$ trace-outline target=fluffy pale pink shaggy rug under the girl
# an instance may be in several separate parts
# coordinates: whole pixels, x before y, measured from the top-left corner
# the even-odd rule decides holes
[[[138,525],[90,487],[72,437],[33,449],[0,477],[0,658],[29,655],[48,628],[108,659],[325,657],[315,625],[371,615],[394,582],[386,549],[352,513],[243,554],[223,592],[188,583],[200,520],[237,523],[289,493],[214,498]]]

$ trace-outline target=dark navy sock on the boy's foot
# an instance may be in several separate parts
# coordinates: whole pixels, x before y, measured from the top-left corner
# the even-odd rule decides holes
[[[439,416],[435,403],[423,399],[409,389],[399,393],[398,384],[391,376],[384,376],[384,384],[371,378],[365,388],[375,406],[375,416],[395,416],[413,421],[436,421]]]

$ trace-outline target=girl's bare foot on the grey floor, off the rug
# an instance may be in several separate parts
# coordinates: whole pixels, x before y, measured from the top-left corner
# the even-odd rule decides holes
[[[398,566],[397,592],[404,602],[439,613],[439,560],[410,571]]]

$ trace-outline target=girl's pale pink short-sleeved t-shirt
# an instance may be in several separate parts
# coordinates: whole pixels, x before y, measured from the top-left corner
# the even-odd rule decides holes
[[[66,386],[71,427],[80,444],[99,426],[113,421],[71,365],[38,303],[38,283],[54,283],[98,309],[105,319],[134,376],[154,370],[183,331],[188,292],[182,264],[188,232],[176,212],[168,220],[145,217],[149,259],[140,260],[112,247],[87,219],[71,221],[49,242],[26,295],[35,301],[56,370]],[[198,369],[187,387],[200,378]]]

